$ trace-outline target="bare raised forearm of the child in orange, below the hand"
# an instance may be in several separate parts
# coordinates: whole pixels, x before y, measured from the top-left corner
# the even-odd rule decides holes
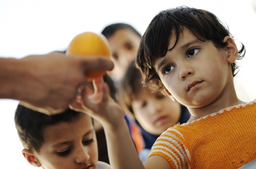
[[[125,120],[120,121],[120,125],[115,128],[103,127],[112,169],[144,169]]]

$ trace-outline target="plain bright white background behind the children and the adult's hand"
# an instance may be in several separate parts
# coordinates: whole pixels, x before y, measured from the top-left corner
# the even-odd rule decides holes
[[[251,101],[256,98],[256,11],[252,4],[252,0],[1,0],[0,57],[22,58],[65,50],[76,35],[100,33],[116,22],[131,24],[143,34],[157,12],[186,5],[213,12],[227,23],[237,46],[244,43],[246,55],[239,61],[235,84],[238,97]],[[14,127],[17,104],[0,100],[0,168],[32,169],[35,167],[21,154]]]

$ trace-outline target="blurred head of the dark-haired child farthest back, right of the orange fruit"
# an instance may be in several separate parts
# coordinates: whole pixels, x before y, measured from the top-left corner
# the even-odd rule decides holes
[[[141,35],[134,27],[124,23],[111,24],[101,33],[108,39],[112,51],[110,58],[114,62],[114,69],[109,72],[109,75],[115,81],[120,81],[135,59]]]

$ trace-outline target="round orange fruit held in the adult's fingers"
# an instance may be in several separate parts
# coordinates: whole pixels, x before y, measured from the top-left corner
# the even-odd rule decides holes
[[[107,38],[93,32],[84,32],[77,35],[70,42],[66,55],[82,57],[103,56],[110,58],[110,48]],[[106,71],[88,70],[85,72],[89,80],[99,78],[106,74]]]

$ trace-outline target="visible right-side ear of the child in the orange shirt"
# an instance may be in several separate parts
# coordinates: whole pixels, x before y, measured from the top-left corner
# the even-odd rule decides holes
[[[230,36],[226,36],[223,39],[223,42],[228,42],[228,45],[225,47],[225,50],[227,51],[227,61],[228,63],[232,64],[236,61],[236,58],[238,57],[236,43]]]

